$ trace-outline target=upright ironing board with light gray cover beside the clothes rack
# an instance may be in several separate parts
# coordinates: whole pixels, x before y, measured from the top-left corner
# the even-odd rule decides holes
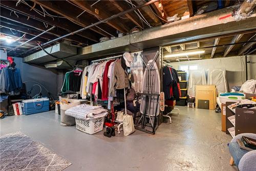
[[[147,87],[147,69],[145,69],[144,74],[143,74],[143,79],[142,79],[142,92],[147,93],[147,89],[149,90],[149,93],[152,94],[160,94],[160,75],[157,67],[157,63],[153,61],[152,59],[147,62],[147,67],[151,65],[153,62],[153,66],[150,72],[150,80],[151,82],[149,83],[150,87]],[[141,104],[140,104],[140,113],[144,113],[144,108],[145,108],[145,95],[142,95],[141,98]],[[151,100],[149,105],[149,113],[150,115],[154,116],[156,109],[157,109],[157,115],[159,115],[159,101],[157,101],[157,96],[151,96]]]

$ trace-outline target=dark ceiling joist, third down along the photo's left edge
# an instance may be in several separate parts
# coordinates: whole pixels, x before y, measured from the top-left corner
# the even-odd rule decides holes
[[[12,30],[16,30],[16,31],[19,31],[22,33],[30,34],[33,36],[36,36],[41,33],[40,31],[31,30],[29,28],[25,29],[25,28],[13,25],[9,22],[5,22],[3,19],[1,19],[1,21],[0,21],[0,26],[5,27],[7,29],[12,29]],[[43,34],[43,35],[40,35],[39,37],[44,38],[45,41],[52,40],[52,39],[56,38],[56,36],[52,36],[50,34]]]

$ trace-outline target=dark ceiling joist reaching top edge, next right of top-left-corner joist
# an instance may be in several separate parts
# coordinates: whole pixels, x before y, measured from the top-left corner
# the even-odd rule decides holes
[[[48,10],[51,10],[63,17],[66,17],[66,18],[72,20],[73,22],[75,22],[83,27],[91,25],[91,23],[88,22],[88,20],[79,19],[79,17],[74,15],[74,13],[71,10],[69,10],[69,9],[72,9],[72,8],[69,8],[70,5],[68,6],[69,9],[67,9],[66,5],[61,6],[61,3],[56,4],[55,1],[35,1],[35,0],[32,0],[32,1],[38,5],[41,5],[42,7],[46,8]],[[73,8],[75,8],[75,7],[73,7]],[[98,28],[90,28],[90,30],[92,30],[98,34],[101,34],[102,36],[110,37],[110,35],[108,33],[104,32]]]

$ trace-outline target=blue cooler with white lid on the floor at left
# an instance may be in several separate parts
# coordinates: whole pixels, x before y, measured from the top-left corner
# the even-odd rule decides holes
[[[39,98],[39,99],[22,100],[22,111],[24,115],[47,112],[49,111],[49,99]]]

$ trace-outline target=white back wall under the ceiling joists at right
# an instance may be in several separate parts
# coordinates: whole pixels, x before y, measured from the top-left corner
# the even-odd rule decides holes
[[[247,59],[250,61],[248,63],[248,79],[256,79],[256,55],[248,55]],[[172,62],[171,65],[178,70],[180,65],[194,63],[198,65],[198,69],[205,71],[218,68],[226,69],[229,89],[233,86],[242,86],[243,82],[246,81],[245,56]]]

